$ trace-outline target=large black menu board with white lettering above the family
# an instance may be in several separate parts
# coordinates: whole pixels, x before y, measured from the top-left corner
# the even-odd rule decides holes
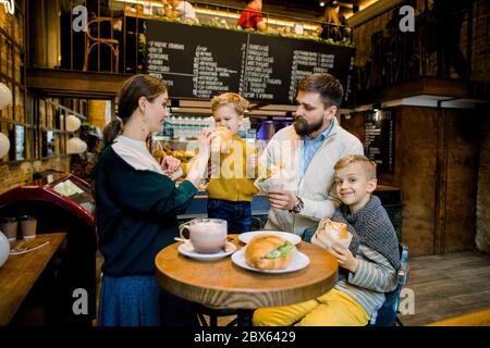
[[[210,99],[235,91],[261,103],[294,103],[310,73],[338,77],[348,100],[354,49],[181,23],[147,22],[147,69],[172,97]]]

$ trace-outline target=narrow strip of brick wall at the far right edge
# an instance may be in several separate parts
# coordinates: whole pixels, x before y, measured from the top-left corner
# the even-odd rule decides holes
[[[478,171],[476,246],[490,252],[490,108],[482,120]]]

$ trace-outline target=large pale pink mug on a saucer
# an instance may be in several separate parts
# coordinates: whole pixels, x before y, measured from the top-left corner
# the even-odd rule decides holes
[[[181,238],[188,239],[199,253],[215,253],[226,244],[228,225],[225,220],[199,217],[179,226]]]

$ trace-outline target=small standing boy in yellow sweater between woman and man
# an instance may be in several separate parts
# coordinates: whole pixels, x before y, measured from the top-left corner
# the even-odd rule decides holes
[[[252,199],[258,188],[254,185],[257,176],[257,151],[238,136],[240,125],[248,101],[237,94],[225,92],[212,98],[211,112],[218,129],[228,130],[221,136],[220,153],[212,153],[213,165],[208,185],[208,217],[228,222],[230,233],[252,231]],[[223,129],[225,128],[225,129]],[[219,132],[221,133],[221,132]],[[225,134],[224,134],[225,135]],[[212,146],[211,146],[212,151]]]

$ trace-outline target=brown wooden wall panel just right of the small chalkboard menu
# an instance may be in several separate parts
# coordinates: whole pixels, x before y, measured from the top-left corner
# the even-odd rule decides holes
[[[438,119],[434,109],[401,107],[397,166],[402,189],[402,241],[412,256],[433,253]]]

